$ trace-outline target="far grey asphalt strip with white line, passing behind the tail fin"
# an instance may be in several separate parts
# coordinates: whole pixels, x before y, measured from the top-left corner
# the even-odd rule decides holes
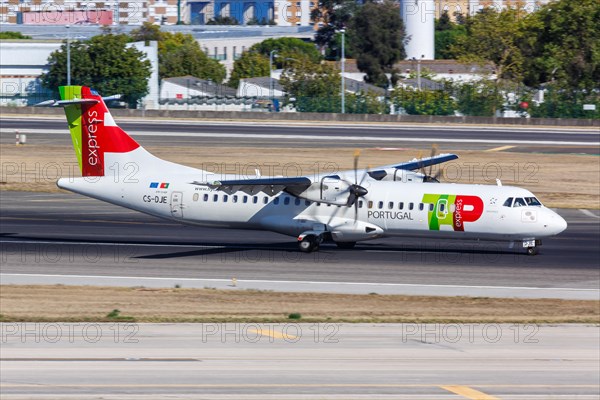
[[[523,127],[328,125],[323,123],[258,123],[118,120],[119,126],[144,146],[228,145],[314,147],[393,147],[438,143],[445,148],[489,149],[516,145],[519,151],[599,154],[600,130]],[[0,143],[14,143],[15,130],[35,143],[69,143],[62,118],[0,119]]]

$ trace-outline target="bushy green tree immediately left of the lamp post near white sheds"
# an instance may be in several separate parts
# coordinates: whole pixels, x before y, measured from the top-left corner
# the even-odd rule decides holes
[[[325,63],[296,61],[283,71],[280,80],[289,101],[300,112],[339,112],[341,77]]]

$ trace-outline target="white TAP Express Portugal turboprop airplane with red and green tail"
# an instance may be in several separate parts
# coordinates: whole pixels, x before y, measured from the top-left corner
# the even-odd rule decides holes
[[[63,86],[81,178],[62,189],[185,224],[268,230],[295,236],[301,251],[324,240],[340,248],[386,236],[519,242],[530,255],[565,220],[528,190],[439,183],[415,172],[457,158],[442,154],[365,171],[240,179],[175,164],[148,153],[117,126],[104,99]],[[106,98],[110,99],[110,98]]]

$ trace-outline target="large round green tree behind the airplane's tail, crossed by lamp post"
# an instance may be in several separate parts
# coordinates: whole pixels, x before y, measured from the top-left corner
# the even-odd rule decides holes
[[[71,43],[71,83],[96,89],[104,95],[122,94],[130,107],[148,94],[150,61],[143,52],[127,46],[127,35],[98,35],[87,42]],[[42,74],[42,85],[55,95],[67,84],[67,45],[48,58],[49,71]]]

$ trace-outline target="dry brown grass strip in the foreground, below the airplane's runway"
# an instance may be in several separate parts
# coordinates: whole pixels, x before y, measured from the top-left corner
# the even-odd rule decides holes
[[[600,323],[600,302],[249,290],[0,286],[3,321]]]

